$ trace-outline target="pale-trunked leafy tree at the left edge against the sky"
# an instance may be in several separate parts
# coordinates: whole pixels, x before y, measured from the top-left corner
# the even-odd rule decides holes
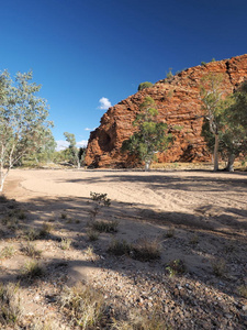
[[[7,70],[0,75],[0,191],[9,170],[41,147],[53,124],[46,100],[37,96],[41,85],[32,78],[32,72],[18,73],[15,81]]]

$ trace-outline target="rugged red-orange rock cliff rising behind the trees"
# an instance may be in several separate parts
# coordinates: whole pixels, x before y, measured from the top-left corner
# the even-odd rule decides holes
[[[158,162],[211,160],[201,136],[203,110],[200,100],[201,78],[209,73],[222,74],[223,92],[231,94],[247,78],[247,54],[186,69],[111,107],[103,114],[100,127],[90,134],[86,164],[93,167],[135,165],[135,158],[122,154],[121,146],[133,134],[132,123],[139,111],[139,105],[147,96],[155,100],[159,120],[167,122],[176,138],[169,150],[158,155]]]

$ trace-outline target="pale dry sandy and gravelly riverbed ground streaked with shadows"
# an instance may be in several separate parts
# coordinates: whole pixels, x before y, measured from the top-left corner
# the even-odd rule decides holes
[[[101,233],[94,242],[87,237],[90,191],[108,194],[112,201],[98,220],[119,222],[116,233]],[[45,239],[35,241],[46,276],[30,286],[21,282],[26,328],[20,329],[48,317],[76,329],[56,297],[61,287],[78,282],[102,289],[119,319],[128,318],[130,310],[151,315],[159,306],[172,329],[247,326],[246,174],[15,169],[4,195],[26,217],[14,229],[1,224],[0,253],[10,244],[15,253],[0,258],[0,280],[16,280],[29,260],[22,252],[24,229],[53,224]],[[1,205],[2,219],[16,208],[9,204]],[[143,238],[158,242],[160,258],[141,262],[108,253],[113,239],[135,243]],[[60,249],[63,239],[71,241],[69,249]],[[182,261],[184,274],[169,276],[173,260]],[[213,265],[223,265],[220,274]]]

